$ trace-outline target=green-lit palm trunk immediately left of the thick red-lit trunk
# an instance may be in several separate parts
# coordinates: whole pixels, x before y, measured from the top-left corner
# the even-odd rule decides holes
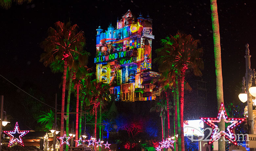
[[[180,97],[179,97],[178,77],[176,77],[175,83],[176,83],[175,92],[176,92],[177,127],[178,127],[178,148],[179,148],[179,151],[181,151],[181,118],[180,118]]]

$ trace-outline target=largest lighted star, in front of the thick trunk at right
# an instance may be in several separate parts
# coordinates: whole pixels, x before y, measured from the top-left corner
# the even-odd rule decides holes
[[[218,126],[214,124],[214,122],[219,123],[222,118],[224,119],[225,123],[231,123],[229,126],[227,126],[227,131],[224,131],[224,130],[218,131]],[[209,144],[218,140],[219,137],[224,136],[230,142],[237,145],[236,137],[235,137],[235,134],[233,133],[232,129],[237,127],[242,122],[244,122],[245,118],[228,118],[224,104],[221,103],[217,118],[201,117],[201,120],[203,120],[207,125],[209,125],[211,128],[213,128],[213,132],[212,132],[211,139],[210,139],[211,141],[208,142]]]

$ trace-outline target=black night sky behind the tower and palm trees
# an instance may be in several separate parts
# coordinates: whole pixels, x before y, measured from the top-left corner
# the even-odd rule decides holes
[[[251,66],[256,63],[256,3],[247,1],[218,1],[220,23],[222,67],[224,84],[224,101],[239,103],[240,83],[245,75],[245,44],[249,43]],[[175,35],[178,30],[191,34],[201,40],[204,49],[203,81],[207,82],[208,101],[216,106],[216,79],[214,67],[214,51],[211,26],[210,1],[140,1],[140,0],[33,0],[30,4],[12,4],[8,10],[0,9],[0,74],[18,86],[31,83],[36,86],[53,106],[54,93],[60,96],[61,73],[53,74],[49,67],[39,62],[43,50],[39,44],[47,37],[49,27],[57,21],[77,24],[85,32],[86,50],[91,53],[89,67],[96,67],[93,58],[96,52],[96,28],[100,25],[104,30],[112,23],[115,27],[117,17],[120,19],[128,9],[137,18],[141,12],[143,17],[149,14],[153,19],[152,42],[153,55],[155,49],[161,47],[160,39],[169,34]],[[153,71],[157,65],[153,64]],[[0,77],[0,81],[5,81]],[[1,90],[5,85],[0,85]],[[17,88],[8,90],[12,95],[19,95]],[[5,91],[1,94],[7,95]],[[41,95],[40,94],[40,95]],[[8,95],[7,95],[8,96]],[[38,96],[38,94],[37,94]],[[10,100],[5,97],[5,100]],[[36,101],[36,100],[35,100]],[[212,106],[212,105],[211,105]],[[205,110],[205,109],[203,109]]]

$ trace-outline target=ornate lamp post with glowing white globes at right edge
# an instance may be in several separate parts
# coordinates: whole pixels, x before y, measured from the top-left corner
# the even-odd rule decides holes
[[[251,55],[249,54],[249,44],[245,45],[245,68],[246,73],[245,77],[243,77],[243,86],[242,86],[242,92],[239,94],[239,99],[242,102],[247,101],[247,107],[248,107],[248,117],[247,117],[247,123],[248,123],[248,131],[249,134],[253,134],[253,111],[252,111],[252,96],[256,96],[256,87],[255,87],[255,71],[254,69],[251,69]],[[250,149],[251,151],[254,149]]]

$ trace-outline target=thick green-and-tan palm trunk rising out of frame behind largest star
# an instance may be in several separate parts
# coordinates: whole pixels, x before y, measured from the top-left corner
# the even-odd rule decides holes
[[[217,0],[211,0],[211,11],[212,11],[212,30],[213,30],[213,44],[214,44],[214,59],[215,59],[215,73],[216,73],[216,92],[218,109],[221,103],[224,103],[223,98],[223,79],[222,79],[222,65],[221,65],[221,43],[220,43],[220,27],[219,27],[219,17]],[[220,131],[225,130],[224,120],[218,123],[218,128]],[[218,146],[219,151],[225,151],[225,142],[219,139]]]

